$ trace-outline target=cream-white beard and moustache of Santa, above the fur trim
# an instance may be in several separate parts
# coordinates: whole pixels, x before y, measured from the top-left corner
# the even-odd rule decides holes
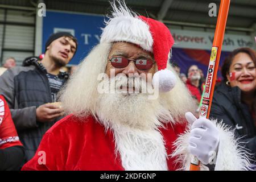
[[[112,79],[112,78],[111,78]],[[147,84],[145,80],[138,81],[130,78],[126,80],[115,78],[115,90],[121,85],[131,85],[140,90]],[[103,80],[110,84],[109,80]],[[114,125],[122,125],[140,130],[156,129],[162,122],[169,121],[170,111],[160,104],[160,96],[156,100],[149,100],[147,93],[102,93],[98,96],[96,114],[101,122],[109,129]],[[162,122],[160,122],[162,121]]]

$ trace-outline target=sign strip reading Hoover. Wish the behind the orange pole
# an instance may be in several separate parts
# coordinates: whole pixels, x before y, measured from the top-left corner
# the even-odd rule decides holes
[[[208,49],[212,48],[214,32],[189,31],[171,29],[174,47]],[[254,48],[254,40],[247,35],[225,34],[222,51],[233,51],[240,47]]]

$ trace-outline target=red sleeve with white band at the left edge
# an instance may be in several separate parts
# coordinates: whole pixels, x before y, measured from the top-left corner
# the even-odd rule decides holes
[[[22,146],[22,143],[20,143],[5,98],[0,95],[0,150],[13,146]]]

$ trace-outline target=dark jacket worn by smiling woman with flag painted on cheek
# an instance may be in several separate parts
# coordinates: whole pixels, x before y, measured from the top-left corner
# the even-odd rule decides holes
[[[214,90],[210,118],[218,119],[235,129],[237,137],[245,147],[256,155],[256,127],[249,107],[241,102],[241,90],[237,86],[230,87],[221,82]]]

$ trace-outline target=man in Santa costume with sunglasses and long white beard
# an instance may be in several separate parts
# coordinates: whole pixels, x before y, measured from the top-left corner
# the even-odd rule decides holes
[[[167,65],[170,30],[125,3],[112,8],[100,43],[61,92],[69,115],[23,170],[184,170],[192,155],[201,169],[247,169],[232,131],[188,112],[195,102]]]

